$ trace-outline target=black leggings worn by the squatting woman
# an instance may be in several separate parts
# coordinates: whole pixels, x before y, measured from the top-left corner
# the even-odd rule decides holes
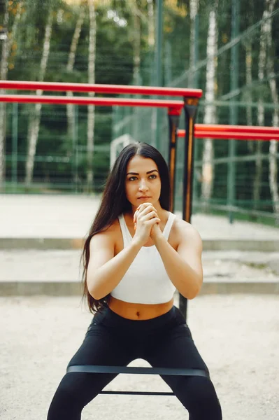
[[[176,307],[146,321],[122,318],[111,309],[97,312],[71,365],[127,366],[142,358],[153,367],[205,370],[202,376],[162,376],[189,412],[189,420],[222,420],[220,402],[183,315]],[[80,420],[83,407],[115,374],[65,374],[52,399],[48,420]]]

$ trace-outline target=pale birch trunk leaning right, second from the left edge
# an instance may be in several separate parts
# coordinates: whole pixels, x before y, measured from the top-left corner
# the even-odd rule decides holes
[[[48,64],[48,56],[50,53],[50,36],[52,32],[52,10],[50,9],[50,13],[48,16],[48,22],[45,26],[45,38],[43,41],[43,55],[41,59],[41,66],[38,76],[38,81],[43,81],[45,77],[45,70]],[[43,93],[42,90],[36,90],[36,94],[41,95]],[[29,128],[28,128],[28,154],[27,154],[27,162],[25,167],[25,185],[27,188],[31,185],[31,181],[33,179],[33,172],[34,172],[34,158],[36,154],[36,146],[38,142],[38,132],[40,129],[40,122],[41,122],[41,108],[42,104],[36,104],[34,109],[34,116],[29,121]]]

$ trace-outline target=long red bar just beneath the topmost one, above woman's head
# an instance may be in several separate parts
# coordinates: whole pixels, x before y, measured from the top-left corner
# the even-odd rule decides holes
[[[1,94],[0,102],[19,102],[24,104],[76,104],[99,106],[151,106],[159,108],[182,108],[183,101],[166,101],[159,99],[124,99],[96,97],[66,97],[31,94]]]

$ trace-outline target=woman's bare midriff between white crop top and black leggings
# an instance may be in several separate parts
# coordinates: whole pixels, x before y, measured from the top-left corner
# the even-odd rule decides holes
[[[123,318],[144,321],[166,314],[173,307],[173,299],[157,304],[130,303],[110,296],[108,306]]]

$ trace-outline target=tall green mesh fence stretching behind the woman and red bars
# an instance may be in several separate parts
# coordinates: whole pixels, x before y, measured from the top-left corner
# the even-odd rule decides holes
[[[176,1],[165,0],[161,25],[159,10],[154,8],[154,17],[157,14],[158,24],[155,30],[155,47],[147,41],[152,31],[147,9],[143,8],[141,15],[138,15],[141,17],[138,57],[134,55],[133,41],[138,38],[131,26],[134,25],[134,14],[128,8],[126,12],[119,9],[118,15],[127,21],[126,26],[117,27],[111,16],[109,17],[110,6],[108,10],[102,6],[97,10],[96,83],[121,84],[134,80],[134,83],[140,85],[159,83],[173,87],[199,87],[203,90],[203,98],[199,104],[196,123],[276,125],[279,113],[279,8],[267,13],[265,1],[231,0],[219,1],[215,10],[214,3],[211,0],[199,1],[198,14],[193,22],[187,7],[178,9]],[[147,3],[145,6],[147,7]],[[215,12],[215,52],[213,59],[210,59],[208,27],[209,18]],[[60,22],[57,15],[55,21],[45,80],[85,82],[88,22],[85,21],[86,25],[81,31],[74,71],[67,73],[66,57],[78,9],[75,12],[77,15],[71,15],[70,9],[67,13],[68,15],[64,14],[65,20],[60,16]],[[71,18],[69,22],[66,17]],[[29,45],[28,39],[26,41],[24,38],[26,22],[20,22],[22,26],[19,27],[17,36],[21,41],[15,45],[18,48],[17,55],[8,63],[8,78],[35,80],[38,75],[34,75],[38,71],[33,70],[40,66],[43,32],[40,37],[41,46],[33,48],[34,45]],[[63,31],[60,29],[62,27]],[[162,36],[158,37],[160,27]],[[21,34],[24,35],[22,39]],[[36,41],[36,37],[34,40]],[[14,53],[15,50],[16,48]],[[138,73],[136,58],[140,64]],[[211,82],[210,63],[214,64],[215,69],[213,76],[211,74]],[[158,69],[161,74],[160,82]],[[210,83],[211,88],[208,87]],[[208,93],[211,94],[209,99]],[[6,105],[4,192],[99,192],[110,167],[110,143],[122,134],[129,134],[137,141],[146,141],[156,146],[168,158],[169,128],[166,110],[125,107],[113,107],[111,110],[96,107],[92,152],[94,179],[89,188],[87,156],[91,151],[87,149],[87,107],[75,106],[74,110],[73,130],[69,130],[66,106],[42,106],[34,157],[34,176],[27,186],[24,179],[28,130],[29,120],[34,115],[34,105]],[[211,111],[210,116],[208,110]],[[180,118],[180,128],[184,128],[183,116]],[[278,173],[277,180],[274,176],[272,179],[270,162],[273,159],[279,165],[278,150],[271,156],[271,143],[264,141],[212,141],[210,170],[213,173],[213,184],[212,193],[206,197],[203,192],[206,141],[210,144],[207,139],[195,140],[194,211],[225,212],[230,218],[260,218],[268,223],[275,223],[278,218],[276,205],[279,204],[274,199],[275,195],[271,194],[271,185],[276,183],[278,190],[279,179]],[[179,139],[176,209],[182,207],[183,152],[184,142]]]

